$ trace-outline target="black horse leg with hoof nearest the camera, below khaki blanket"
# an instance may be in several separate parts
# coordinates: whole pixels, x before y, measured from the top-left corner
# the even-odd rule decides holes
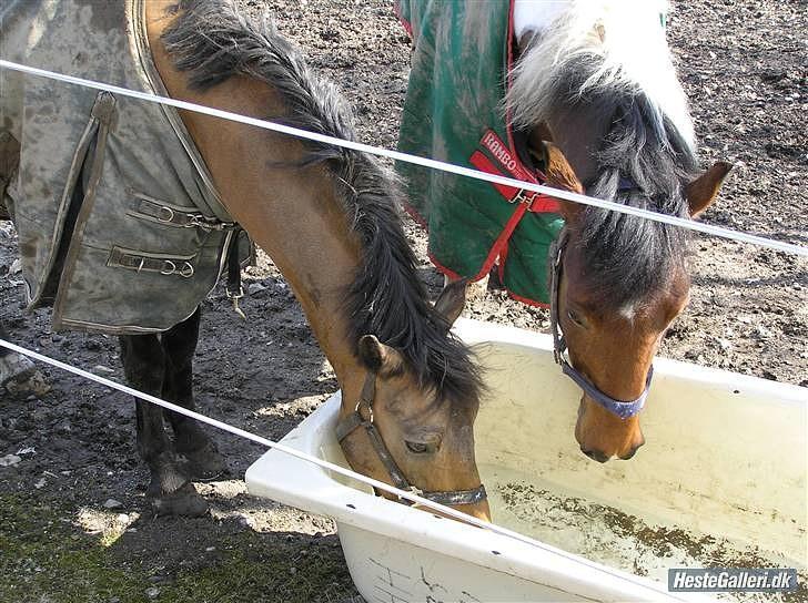
[[[156,335],[123,335],[121,359],[127,381],[133,388],[161,396],[165,354]],[[183,472],[163,426],[159,406],[135,399],[138,450],[151,471],[147,495],[158,514],[201,515],[208,503]]]

